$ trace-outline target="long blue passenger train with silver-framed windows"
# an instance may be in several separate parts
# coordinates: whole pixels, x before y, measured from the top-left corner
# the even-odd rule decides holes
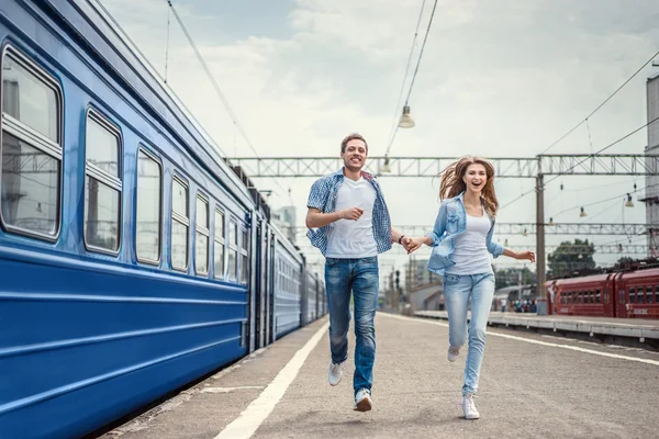
[[[326,314],[97,4],[2,0],[0,44],[0,438],[83,436]]]

